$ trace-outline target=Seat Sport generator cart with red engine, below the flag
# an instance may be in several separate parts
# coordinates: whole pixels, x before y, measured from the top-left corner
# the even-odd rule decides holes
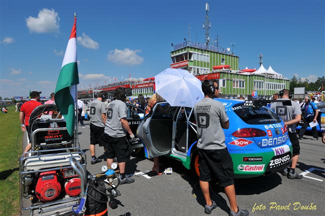
[[[84,195],[86,155],[64,119],[39,117],[48,111],[58,112],[45,104],[30,115],[31,150],[19,160],[20,207],[30,215],[73,215],[72,206]]]

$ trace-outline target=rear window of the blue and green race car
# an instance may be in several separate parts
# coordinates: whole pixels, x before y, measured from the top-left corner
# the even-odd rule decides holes
[[[281,122],[281,119],[265,106],[244,106],[243,103],[238,103],[232,106],[232,110],[247,124]]]

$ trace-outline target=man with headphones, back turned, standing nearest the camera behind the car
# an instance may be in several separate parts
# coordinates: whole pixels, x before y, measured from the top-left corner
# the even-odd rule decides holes
[[[209,181],[215,175],[219,185],[224,187],[224,192],[230,203],[229,215],[248,215],[248,210],[237,206],[236,194],[233,185],[233,163],[225,145],[222,128],[229,128],[229,119],[225,108],[214,97],[217,97],[218,87],[214,87],[208,80],[202,83],[204,98],[194,106],[194,116],[197,128],[197,152],[199,164],[199,184],[205,199],[204,212],[210,214],[216,208],[216,203],[209,194]]]

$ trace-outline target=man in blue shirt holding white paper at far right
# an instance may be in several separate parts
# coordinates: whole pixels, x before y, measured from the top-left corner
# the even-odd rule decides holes
[[[299,131],[299,139],[303,139],[303,134],[306,131],[306,128],[309,126],[310,122],[317,121],[318,110],[314,102],[310,101],[309,97],[304,97],[304,105],[301,107],[303,110],[303,125]],[[312,130],[312,140],[318,140],[318,134],[316,126],[311,128]]]

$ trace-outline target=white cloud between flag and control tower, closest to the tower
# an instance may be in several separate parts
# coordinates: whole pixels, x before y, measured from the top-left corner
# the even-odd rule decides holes
[[[141,49],[131,50],[129,48],[110,50],[107,54],[107,60],[119,65],[135,65],[143,62],[143,57],[137,55]]]

